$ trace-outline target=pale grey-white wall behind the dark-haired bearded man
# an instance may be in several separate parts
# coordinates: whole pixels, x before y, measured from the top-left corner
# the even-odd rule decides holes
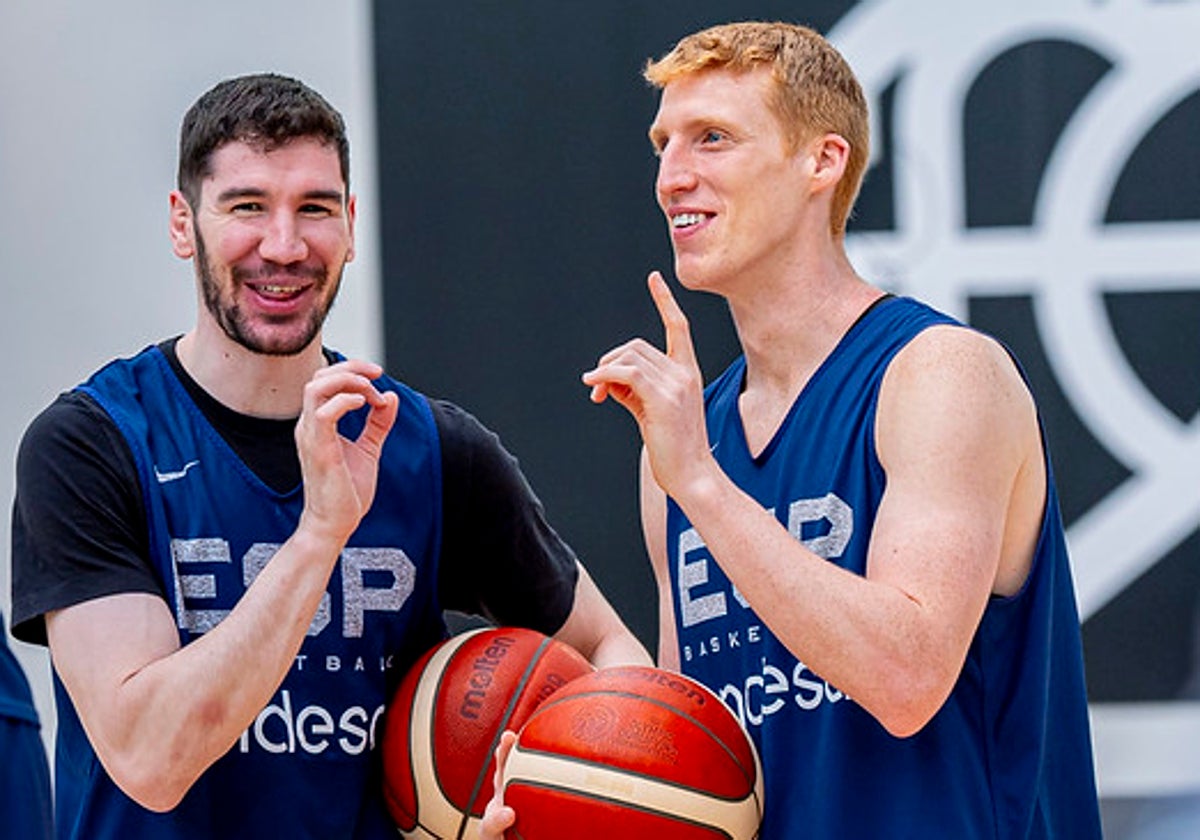
[[[244,72],[295,76],[347,119],[358,257],[326,342],[382,359],[367,0],[0,4],[0,605],[10,610],[13,457],[29,420],[102,362],[186,331],[192,266],[167,239],[179,121]],[[13,647],[47,743],[46,652]]]

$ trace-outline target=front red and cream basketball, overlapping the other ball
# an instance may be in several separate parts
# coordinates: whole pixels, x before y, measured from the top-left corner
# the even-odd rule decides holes
[[[601,668],[538,707],[504,766],[520,840],[751,840],[762,768],[733,713],[661,668]]]

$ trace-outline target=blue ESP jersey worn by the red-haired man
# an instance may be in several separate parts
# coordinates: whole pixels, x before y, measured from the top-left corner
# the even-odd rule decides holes
[[[911,299],[881,301],[757,458],[738,414],[738,359],[706,391],[715,457],[798,540],[863,575],[884,487],[874,432],[880,383],[908,341],[948,323]],[[991,599],[950,697],[904,739],[772,635],[668,503],[682,668],[725,700],[758,746],[762,840],[1100,836],[1079,617],[1049,481],[1028,581],[1013,598]]]

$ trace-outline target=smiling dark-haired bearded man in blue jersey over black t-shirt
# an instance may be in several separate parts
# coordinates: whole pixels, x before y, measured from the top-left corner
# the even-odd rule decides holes
[[[323,97],[216,85],[170,194],[194,328],[25,433],[13,626],[54,664],[60,836],[395,836],[373,748],[444,610],[649,661],[494,434],[322,344],[354,220]]]

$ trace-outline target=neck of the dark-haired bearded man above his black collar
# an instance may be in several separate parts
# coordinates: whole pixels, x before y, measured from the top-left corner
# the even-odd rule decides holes
[[[296,355],[272,356],[198,326],[179,340],[175,352],[184,370],[217,402],[268,419],[299,416],[305,384],[325,365],[319,335]]]

